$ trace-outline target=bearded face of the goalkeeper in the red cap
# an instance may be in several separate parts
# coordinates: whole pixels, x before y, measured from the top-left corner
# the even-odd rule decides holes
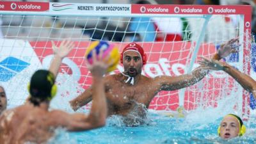
[[[141,56],[136,51],[126,51],[124,52],[123,59],[124,71],[131,77],[135,77],[141,74],[142,60]]]

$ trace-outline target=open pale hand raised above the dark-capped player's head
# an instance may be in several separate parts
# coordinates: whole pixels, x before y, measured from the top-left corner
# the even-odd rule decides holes
[[[59,47],[52,41],[52,51],[55,56],[60,56],[60,58],[65,58],[74,46],[74,42],[70,40],[62,41]]]

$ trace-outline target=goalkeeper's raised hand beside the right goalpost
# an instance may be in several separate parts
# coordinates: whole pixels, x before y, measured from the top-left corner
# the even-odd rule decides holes
[[[238,52],[238,48],[241,44],[239,44],[238,38],[233,38],[226,42],[225,44],[220,45],[220,49],[218,49],[218,55],[221,58],[225,58],[231,53]]]

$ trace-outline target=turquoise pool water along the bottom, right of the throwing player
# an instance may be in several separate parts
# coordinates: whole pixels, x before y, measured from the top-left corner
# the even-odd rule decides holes
[[[149,113],[149,125],[125,127],[115,118],[108,118],[106,127],[85,132],[61,131],[50,143],[256,143],[255,118],[245,122],[246,134],[232,140],[221,140],[217,128],[221,118],[209,124],[192,124],[186,118],[170,118]],[[253,124],[254,122],[254,124]]]

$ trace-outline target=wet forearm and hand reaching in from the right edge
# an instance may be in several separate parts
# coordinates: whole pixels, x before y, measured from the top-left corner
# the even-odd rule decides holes
[[[227,72],[230,76],[232,76],[241,86],[243,86],[244,90],[251,92],[253,97],[256,99],[256,81],[252,79],[252,77],[243,74],[236,68],[228,65],[228,63],[216,60],[209,60],[207,58],[202,58],[200,61],[200,65],[204,66],[205,69],[211,70],[223,70]]]

